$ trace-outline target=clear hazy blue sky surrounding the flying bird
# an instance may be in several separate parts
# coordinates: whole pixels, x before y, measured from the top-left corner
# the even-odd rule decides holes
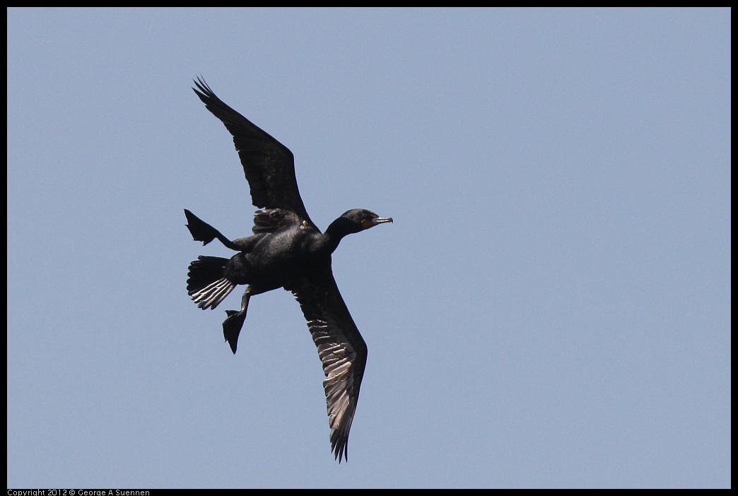
[[[9,487],[728,487],[729,10],[8,13]],[[291,294],[187,297],[288,146],[369,347],[348,464]]]

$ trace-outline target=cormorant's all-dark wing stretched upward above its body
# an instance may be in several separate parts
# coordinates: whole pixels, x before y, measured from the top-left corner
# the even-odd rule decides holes
[[[195,84],[197,89],[193,90],[197,96],[233,135],[235,149],[251,187],[252,203],[259,208],[290,210],[313,224],[297,189],[294,156],[289,148],[227,106],[200,77]]]

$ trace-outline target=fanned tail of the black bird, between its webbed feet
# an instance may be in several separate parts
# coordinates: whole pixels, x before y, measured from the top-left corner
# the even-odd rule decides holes
[[[224,278],[227,258],[199,256],[190,263],[187,294],[201,309],[215,309],[233,291],[235,283]]]

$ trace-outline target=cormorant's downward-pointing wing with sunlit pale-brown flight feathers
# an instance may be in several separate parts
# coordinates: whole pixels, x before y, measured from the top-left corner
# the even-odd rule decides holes
[[[308,321],[323,363],[325,402],[331,427],[331,452],[348,460],[348,433],[359,401],[367,362],[367,345],[348,313],[330,269],[325,277],[289,288]]]

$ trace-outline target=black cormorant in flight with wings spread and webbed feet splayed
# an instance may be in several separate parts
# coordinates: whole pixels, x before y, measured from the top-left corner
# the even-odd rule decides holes
[[[203,245],[218,239],[237,252],[232,258],[199,256],[190,263],[187,293],[201,309],[215,309],[239,284],[246,285],[241,309],[227,310],[223,334],[235,354],[249,299],[284,288],[292,292],[308,323],[323,364],[323,388],[331,428],[331,452],[348,461],[348,433],[356,413],[367,345],[338,290],[331,253],[345,235],[368,230],[390,217],[353,209],[331,222],[325,232],[311,221],[289,149],[215,96],[201,77],[193,91],[233,136],[257,210],[251,236],[230,240],[184,210],[187,228]]]

